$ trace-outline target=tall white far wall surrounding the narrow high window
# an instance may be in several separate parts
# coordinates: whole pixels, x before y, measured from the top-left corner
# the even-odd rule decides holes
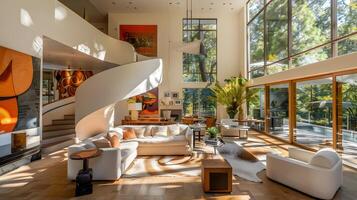
[[[243,65],[244,42],[241,12],[193,13],[194,18],[217,18],[217,70],[218,80],[237,76]],[[244,16],[244,15],[243,15]],[[159,96],[165,91],[177,91],[182,98],[182,88],[204,87],[206,83],[184,83],[182,78],[182,53],[177,45],[182,42],[182,19],[185,11],[169,10],[163,13],[109,13],[108,34],[119,37],[119,25],[157,25],[158,57],[163,59],[164,79],[159,87]],[[243,73],[243,72],[242,72]],[[219,106],[217,117],[225,117]]]

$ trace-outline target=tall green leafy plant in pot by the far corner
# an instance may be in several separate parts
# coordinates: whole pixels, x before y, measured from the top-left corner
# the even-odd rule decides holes
[[[229,118],[233,119],[237,113],[242,117],[242,105],[253,97],[254,93],[247,90],[248,80],[239,75],[225,80],[225,85],[216,82],[211,88],[217,102],[226,107]]]

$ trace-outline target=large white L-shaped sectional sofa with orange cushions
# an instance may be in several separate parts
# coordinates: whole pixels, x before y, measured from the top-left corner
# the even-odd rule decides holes
[[[138,138],[122,140],[124,128],[144,129]],[[157,131],[159,130],[159,131]],[[190,155],[193,149],[192,130],[187,125],[168,126],[119,126],[112,128],[118,134],[119,148],[102,148],[102,154],[89,159],[89,167],[93,170],[93,180],[117,180],[121,177],[138,155]],[[92,141],[101,139],[107,133],[88,138],[68,148],[68,155],[74,152],[95,148]],[[68,160],[67,178],[75,180],[82,169],[82,161]]]

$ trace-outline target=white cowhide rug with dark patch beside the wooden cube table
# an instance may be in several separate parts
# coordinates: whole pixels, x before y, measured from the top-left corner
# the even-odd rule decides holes
[[[233,175],[252,182],[262,182],[257,173],[265,169],[262,161],[244,150],[239,142],[226,142],[218,149],[219,154],[232,166]]]

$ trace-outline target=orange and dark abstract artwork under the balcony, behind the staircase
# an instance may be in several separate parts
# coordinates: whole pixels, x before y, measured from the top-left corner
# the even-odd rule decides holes
[[[93,76],[93,72],[82,70],[58,70],[54,72],[54,76],[57,81],[59,99],[65,99],[74,96],[77,88],[85,80]]]

